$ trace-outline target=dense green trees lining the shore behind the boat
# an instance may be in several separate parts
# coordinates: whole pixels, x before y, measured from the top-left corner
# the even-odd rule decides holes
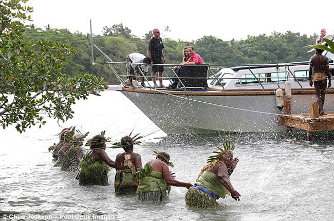
[[[111,28],[105,26],[102,35],[96,35],[93,43],[97,45],[113,62],[124,62],[124,58],[132,52],[147,54],[147,46],[152,38],[150,30],[144,36],[138,37],[122,24],[114,24]],[[287,31],[273,32],[269,36],[259,34],[248,36],[246,40],[222,41],[215,36],[202,36],[196,41],[175,41],[164,39],[164,53],[168,64],[179,64],[182,60],[184,46],[193,45],[205,63],[210,64],[268,64],[308,61],[312,54],[304,47],[312,45],[318,35],[312,36]],[[71,33],[66,28],[52,29],[26,27],[26,41],[49,40],[61,41],[74,47],[79,53],[69,58],[65,72],[68,76],[76,76],[80,72],[88,72],[97,77],[103,77],[106,82],[118,82],[107,65],[92,65],[89,33]],[[94,50],[95,62],[108,62],[104,56]],[[116,71],[125,75],[124,65],[114,65]]]

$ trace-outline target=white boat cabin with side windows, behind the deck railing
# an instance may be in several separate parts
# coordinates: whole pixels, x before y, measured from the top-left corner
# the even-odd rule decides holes
[[[334,74],[334,55],[325,51],[329,57],[331,75]],[[215,89],[266,89],[284,88],[289,80],[291,88],[310,88],[309,62],[294,62],[270,65],[246,65],[219,68],[218,72],[208,78],[209,87]]]

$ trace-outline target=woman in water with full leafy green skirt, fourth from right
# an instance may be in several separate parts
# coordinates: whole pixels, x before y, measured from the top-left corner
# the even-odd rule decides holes
[[[108,186],[109,167],[115,168],[115,162],[105,152],[106,138],[96,135],[90,140],[90,150],[80,162],[80,169],[76,176],[79,185]]]

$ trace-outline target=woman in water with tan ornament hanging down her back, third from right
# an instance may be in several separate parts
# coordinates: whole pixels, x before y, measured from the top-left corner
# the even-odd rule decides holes
[[[139,181],[135,178],[137,169],[141,169],[141,156],[134,153],[134,141],[125,136],[121,139],[124,153],[116,156],[115,193],[135,194]]]

